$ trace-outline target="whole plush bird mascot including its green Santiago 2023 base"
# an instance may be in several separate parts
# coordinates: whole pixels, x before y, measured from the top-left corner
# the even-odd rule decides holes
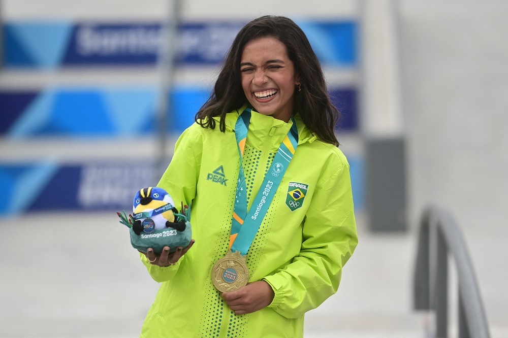
[[[152,248],[160,254],[165,246],[174,252],[177,247],[186,247],[191,240],[190,208],[175,208],[171,196],[159,187],[139,190],[134,196],[133,215],[126,216],[125,211],[116,213],[120,223],[128,226],[131,244],[135,249],[146,252]]]

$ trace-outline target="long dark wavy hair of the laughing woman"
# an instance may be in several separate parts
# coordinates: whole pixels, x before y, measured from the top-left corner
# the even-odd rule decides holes
[[[340,113],[328,96],[321,64],[303,30],[283,16],[262,16],[250,21],[238,32],[212,94],[196,113],[196,122],[203,128],[214,129],[212,117],[220,116],[220,131],[226,131],[226,114],[248,102],[240,74],[243,49],[251,40],[267,36],[275,37],[285,45],[300,77],[301,91],[295,91],[295,111],[319,140],[338,146],[334,128]]]

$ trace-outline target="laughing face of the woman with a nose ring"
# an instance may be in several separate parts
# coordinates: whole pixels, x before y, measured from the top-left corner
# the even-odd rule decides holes
[[[240,74],[243,92],[257,112],[289,121],[300,81],[282,42],[263,37],[246,44]]]

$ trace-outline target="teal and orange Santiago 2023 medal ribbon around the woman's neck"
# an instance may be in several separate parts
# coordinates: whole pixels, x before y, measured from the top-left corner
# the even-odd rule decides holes
[[[247,139],[251,110],[252,107],[245,108],[240,113],[240,116],[238,116],[235,126],[236,142],[238,143],[238,152],[240,153],[240,172],[238,173],[236,185],[236,199],[233,209],[229,248],[233,252],[240,251],[242,255],[247,254],[298,146],[298,129],[292,116],[293,125],[287,136],[280,143],[279,150],[272,161],[270,170],[266,173],[260,191],[256,194],[252,206],[247,213],[247,186],[242,156]]]

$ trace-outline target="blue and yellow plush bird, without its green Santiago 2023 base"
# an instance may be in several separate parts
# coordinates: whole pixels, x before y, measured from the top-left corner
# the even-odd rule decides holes
[[[135,219],[132,229],[137,235],[141,231],[150,233],[170,227],[178,231],[185,230],[184,221],[175,222],[178,210],[173,198],[163,188],[148,187],[139,190],[134,196],[132,209]]]

